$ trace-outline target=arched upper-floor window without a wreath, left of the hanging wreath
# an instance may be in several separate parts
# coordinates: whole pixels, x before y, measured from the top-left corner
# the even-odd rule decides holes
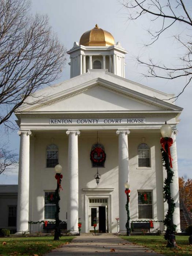
[[[55,144],[47,146],[46,167],[55,167],[58,164],[58,147]]]

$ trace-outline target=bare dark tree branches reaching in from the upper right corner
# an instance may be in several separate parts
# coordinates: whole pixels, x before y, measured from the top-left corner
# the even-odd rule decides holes
[[[148,29],[150,42],[146,46],[154,44],[159,37],[173,26],[179,25],[184,33],[174,35],[174,38],[184,48],[184,54],[177,64],[170,67],[156,64],[152,59],[144,61],[137,57],[139,64],[148,67],[146,77],[158,77],[163,79],[177,79],[185,77],[187,82],[182,91],[171,99],[177,99],[184,89],[191,83],[192,79],[192,18],[190,12],[190,1],[185,0],[123,0],[124,7],[128,10],[128,19],[136,20],[143,15],[148,16],[151,23],[154,23],[155,30]],[[192,7],[192,5],[191,5]],[[184,34],[184,35],[183,35]]]

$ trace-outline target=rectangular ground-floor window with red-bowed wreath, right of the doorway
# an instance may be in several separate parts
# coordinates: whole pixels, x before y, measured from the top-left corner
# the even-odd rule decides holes
[[[144,193],[146,193],[146,201],[144,200]],[[153,219],[152,192],[138,192],[138,213],[139,219]]]

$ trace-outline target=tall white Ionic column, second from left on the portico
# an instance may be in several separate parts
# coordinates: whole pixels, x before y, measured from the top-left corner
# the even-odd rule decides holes
[[[67,131],[68,142],[68,201],[67,201],[67,229],[78,233],[78,135],[80,131]]]

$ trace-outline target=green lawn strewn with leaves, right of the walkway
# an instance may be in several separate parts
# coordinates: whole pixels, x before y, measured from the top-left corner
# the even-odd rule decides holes
[[[192,245],[189,245],[188,241],[189,236],[176,236],[176,243],[180,249],[166,248],[167,241],[163,236],[124,236],[122,238],[167,256],[192,255]]]

